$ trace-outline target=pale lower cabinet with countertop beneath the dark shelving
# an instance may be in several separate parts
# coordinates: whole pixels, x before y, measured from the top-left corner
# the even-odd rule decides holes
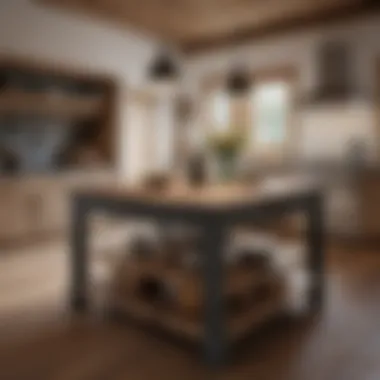
[[[1,180],[0,248],[63,236],[70,223],[71,193],[114,180],[112,172]]]

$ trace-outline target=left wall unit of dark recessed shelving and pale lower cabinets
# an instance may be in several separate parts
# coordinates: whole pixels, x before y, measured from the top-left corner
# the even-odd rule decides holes
[[[115,179],[116,96],[108,75],[0,58],[0,245],[64,235],[71,192]]]

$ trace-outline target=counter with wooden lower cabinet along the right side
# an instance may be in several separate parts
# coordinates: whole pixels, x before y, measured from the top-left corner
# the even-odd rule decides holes
[[[271,177],[301,177],[319,183],[325,194],[329,235],[380,242],[380,164],[377,162],[362,165],[287,162],[254,166],[245,180],[254,182]]]

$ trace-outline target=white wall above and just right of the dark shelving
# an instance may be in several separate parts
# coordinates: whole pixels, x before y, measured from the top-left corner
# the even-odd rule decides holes
[[[116,25],[32,0],[0,0],[0,54],[36,57],[118,79],[118,169],[130,180],[135,178],[133,162],[138,159],[139,147],[127,149],[126,141],[136,139],[139,123],[129,117],[128,89],[145,85],[147,65],[156,47],[151,36]]]

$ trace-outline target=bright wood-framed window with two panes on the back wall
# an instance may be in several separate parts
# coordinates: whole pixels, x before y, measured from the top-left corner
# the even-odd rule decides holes
[[[292,68],[258,72],[250,94],[231,98],[220,85],[209,93],[208,127],[214,132],[239,128],[249,140],[248,151],[259,156],[280,156],[290,148],[294,137],[293,92],[295,73]],[[223,83],[223,82],[222,82]]]

